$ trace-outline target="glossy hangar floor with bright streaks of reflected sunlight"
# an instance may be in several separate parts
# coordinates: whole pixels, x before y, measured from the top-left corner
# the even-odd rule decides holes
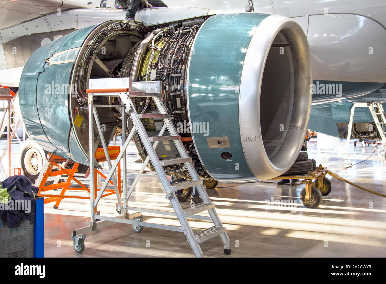
[[[344,169],[344,165],[360,162],[374,151],[362,148],[360,143],[356,148],[351,144],[353,155],[349,160],[340,153],[318,152],[315,141],[309,142],[308,154],[342,177],[385,194],[386,167],[381,165],[379,155]],[[137,159],[134,145],[130,144],[129,151],[128,167],[133,172],[128,176],[130,183],[140,165],[130,163]],[[300,184],[290,187],[267,181],[219,184],[215,189],[207,189],[227,227],[232,254],[224,255],[220,238],[213,238],[201,245],[204,256],[386,257],[386,199],[339,180],[331,178],[331,181],[332,192],[323,197],[322,205],[316,209],[301,205],[298,195],[304,186]],[[137,207],[170,207],[160,186],[157,176],[147,172],[142,175],[130,203]],[[271,198],[273,204],[267,204]],[[279,206],[283,205],[282,199],[296,203],[291,208]],[[46,257],[193,257],[182,233],[147,227],[135,233],[125,224],[88,233],[85,251],[74,252],[69,235],[73,229],[88,225],[88,204],[84,200],[64,199],[58,210],[52,208],[53,203],[45,205]],[[98,209],[106,216],[117,216],[113,197],[105,198]],[[152,223],[178,224],[171,216],[143,215],[145,221]],[[211,226],[206,221],[191,221],[193,231]]]

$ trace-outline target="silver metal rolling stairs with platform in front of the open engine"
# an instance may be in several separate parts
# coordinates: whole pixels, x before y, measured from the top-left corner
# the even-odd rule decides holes
[[[178,136],[177,131],[174,128],[173,123],[171,122],[171,116],[170,114],[168,114],[166,107],[163,105],[163,102],[161,99],[161,97],[163,96],[161,91],[162,90],[161,82],[147,81],[147,82],[132,83],[131,78],[104,78],[104,79],[90,79],[89,87],[91,89],[86,90],[86,92],[88,93],[88,114],[89,114],[88,122],[89,122],[89,129],[90,129],[90,141],[89,141],[89,144],[90,144],[89,153],[91,157],[90,165],[95,165],[95,167],[100,167],[100,165],[95,161],[94,155],[92,155],[92,153],[94,153],[94,151],[96,150],[96,146],[95,146],[97,145],[96,142],[100,142],[102,144],[105,154],[107,154],[107,145],[106,145],[105,139],[103,138],[102,128],[101,128],[101,124],[99,121],[96,108],[111,107],[110,105],[93,104],[94,95],[107,96],[107,97],[120,97],[122,105],[121,106],[114,105],[114,107],[117,107],[117,109],[120,109],[120,112],[122,115],[122,121],[126,121],[126,114],[129,114],[134,124],[134,127],[130,131],[128,137],[126,137],[125,128],[124,127],[122,128],[123,146],[113,164],[108,158],[108,155],[106,155],[107,157],[106,162],[109,168],[109,173],[107,174],[106,180],[105,182],[103,182],[103,185],[95,198],[94,198],[95,187],[93,183],[90,184],[90,197],[91,197],[90,226],[73,231],[71,238],[73,239],[75,250],[77,252],[83,251],[84,240],[86,237],[85,233],[89,231],[98,230],[100,228],[105,228],[106,226],[110,226],[115,223],[125,223],[125,224],[131,224],[133,226],[134,231],[138,233],[142,230],[142,226],[183,232],[196,257],[202,257],[203,255],[203,252],[200,248],[199,243],[202,243],[203,241],[206,241],[210,238],[213,238],[214,236],[219,235],[224,245],[224,253],[229,254],[231,252],[230,243],[229,243],[230,240],[226,233],[226,228],[223,227],[220,219],[218,218],[218,215],[214,209],[214,204],[210,201],[210,198],[203,186],[203,180],[200,180],[198,173],[196,172],[195,167],[191,162],[192,159],[186,152],[185,147],[183,146],[183,143],[181,141],[181,136]],[[135,111],[134,104],[132,103],[130,97],[152,98],[154,100],[154,103],[157,106],[157,109],[159,110],[159,114],[137,114],[137,112]],[[155,137],[147,136],[146,130],[140,120],[144,116],[146,117],[152,116],[153,118],[163,119],[164,125],[158,136],[155,136]],[[99,134],[97,139],[94,139],[95,128],[98,129],[98,134]],[[163,136],[166,129],[168,129],[170,136]],[[129,142],[133,137],[135,131],[138,132],[142,140],[142,143],[146,148],[148,156],[145,159],[144,163],[142,164],[142,167],[139,170],[137,177],[134,179],[134,182],[132,183],[131,187],[128,189],[127,188],[126,149],[127,149],[127,146],[129,146]],[[178,149],[179,154],[181,155],[180,158],[159,160],[157,153],[155,151],[155,148],[158,145],[159,141],[166,141],[166,140],[174,141],[176,148]],[[152,142],[154,142],[153,145],[152,145]],[[123,167],[122,167],[123,169],[123,202],[122,202],[122,199],[120,198],[120,192],[119,192],[120,189],[117,187],[117,181],[115,177],[115,169],[117,168],[120,159],[122,159],[123,161],[122,162],[123,164]],[[150,160],[165,190],[165,193],[166,193],[165,198],[170,201],[174,212],[150,210],[146,208],[127,206],[128,199],[131,193],[133,192],[139,178],[141,177],[141,174],[144,171],[147,163],[149,163]],[[166,173],[164,172],[163,166],[178,164],[178,163],[185,163],[192,180],[186,180],[183,182],[170,184],[169,179]],[[90,180],[93,180],[93,179],[94,179],[94,171],[91,170]],[[95,207],[100,201],[102,194],[105,191],[110,180],[112,180],[113,182],[115,193],[118,199],[117,212],[120,213],[120,216],[116,218],[102,216],[100,214],[95,213]],[[193,206],[183,209],[179,204],[174,191],[179,189],[184,189],[186,187],[192,187],[192,186],[196,186],[203,202],[199,204],[193,204]],[[134,210],[134,211],[140,210],[140,211],[151,212],[156,214],[174,215],[174,216],[177,216],[181,226],[169,226],[169,225],[163,225],[163,224],[144,222],[141,212],[129,214],[128,210]],[[208,211],[210,217],[208,218],[205,216],[195,215],[203,211]],[[187,217],[210,220],[213,222],[214,226],[195,234],[193,233],[193,230],[191,229],[190,224],[188,223]],[[83,249],[81,249],[82,247]],[[78,250],[78,248],[80,248],[80,250]]]

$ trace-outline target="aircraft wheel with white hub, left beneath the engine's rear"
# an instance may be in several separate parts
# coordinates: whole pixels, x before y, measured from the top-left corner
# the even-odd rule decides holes
[[[36,182],[45,159],[45,151],[34,139],[25,140],[20,150],[19,163],[22,175],[25,175],[32,182],[32,185]]]

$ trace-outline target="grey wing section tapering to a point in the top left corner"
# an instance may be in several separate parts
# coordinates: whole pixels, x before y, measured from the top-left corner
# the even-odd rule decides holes
[[[68,9],[91,8],[68,0],[0,0],[0,30]]]

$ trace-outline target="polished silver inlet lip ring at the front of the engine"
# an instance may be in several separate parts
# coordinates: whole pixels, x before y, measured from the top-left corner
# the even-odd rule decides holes
[[[268,53],[278,34],[288,43],[293,66],[291,101],[283,143],[268,157],[261,131],[261,88]],[[279,52],[279,51],[278,51]],[[278,83],[280,80],[278,80]],[[311,111],[311,56],[306,36],[293,20],[270,15],[256,28],[245,55],[239,94],[239,125],[245,160],[260,180],[277,177],[295,162],[304,141]],[[257,127],[256,127],[257,126]],[[277,126],[279,129],[279,125]]]

